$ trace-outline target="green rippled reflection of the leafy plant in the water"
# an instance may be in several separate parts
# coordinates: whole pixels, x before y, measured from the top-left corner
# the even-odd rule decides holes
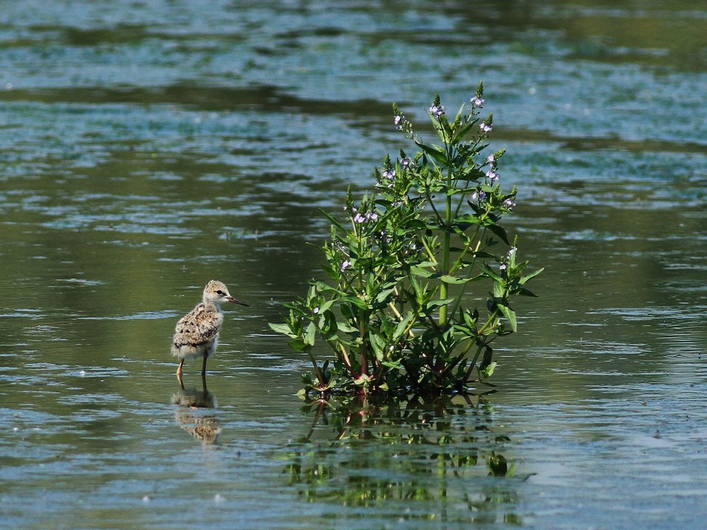
[[[404,519],[522,524],[513,509],[527,476],[503,455],[510,438],[483,397],[322,400],[303,412],[312,425],[288,446],[286,473],[306,500],[392,508]]]

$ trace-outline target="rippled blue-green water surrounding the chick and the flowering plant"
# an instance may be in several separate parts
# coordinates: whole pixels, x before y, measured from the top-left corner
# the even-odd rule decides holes
[[[687,1],[0,2],[0,527],[703,526],[705,34]],[[304,411],[267,322],[318,208],[414,151],[393,101],[480,80],[546,267],[498,391]],[[204,396],[169,345],[214,277],[250,307]]]

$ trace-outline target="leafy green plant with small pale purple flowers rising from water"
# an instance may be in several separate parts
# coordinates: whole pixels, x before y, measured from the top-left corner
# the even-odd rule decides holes
[[[420,151],[386,156],[361,201],[349,190],[346,221],[325,213],[329,281],[312,280],[286,304],[286,322],[270,324],[309,356],[305,394],[463,392],[491,377],[491,344],[517,329],[510,300],[533,296],[525,284],[542,269],[527,272],[501,225],[516,189],[501,187],[505,150],[481,155],[493,129],[492,114],[480,117],[483,90],[479,83],[453,119],[435,98],[428,116],[439,144],[423,142],[394,104],[395,126]],[[481,310],[467,307],[489,285]],[[317,337],[333,363],[317,361]]]

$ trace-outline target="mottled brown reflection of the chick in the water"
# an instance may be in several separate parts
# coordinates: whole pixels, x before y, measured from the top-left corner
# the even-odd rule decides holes
[[[200,414],[198,408],[215,408],[216,397],[204,388],[203,391],[191,388],[181,389],[172,396],[172,403],[179,405],[175,418],[179,426],[189,432],[204,445],[218,442],[221,434],[221,422],[216,414]]]

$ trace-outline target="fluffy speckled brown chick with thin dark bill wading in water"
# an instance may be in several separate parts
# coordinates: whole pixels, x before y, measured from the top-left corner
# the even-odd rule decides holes
[[[222,282],[211,280],[204,288],[203,301],[177,322],[172,339],[172,355],[180,358],[177,368],[177,379],[180,384],[182,366],[187,358],[204,358],[204,364],[201,365],[201,379],[206,379],[206,359],[216,351],[218,332],[221,331],[221,324],[223,324],[223,312],[221,312],[223,302],[247,306],[246,303],[233,298]]]

